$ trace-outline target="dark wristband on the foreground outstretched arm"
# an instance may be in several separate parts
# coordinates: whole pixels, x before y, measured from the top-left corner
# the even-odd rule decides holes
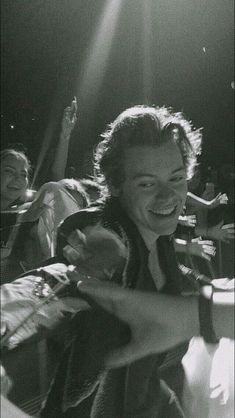
[[[204,294],[204,288],[201,289],[199,296],[200,335],[207,343],[216,344],[219,339],[215,334],[212,322],[213,286],[206,286],[206,289],[210,289],[209,297]]]

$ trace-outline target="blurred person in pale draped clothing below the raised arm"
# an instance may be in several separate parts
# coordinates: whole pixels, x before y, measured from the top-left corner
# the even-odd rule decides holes
[[[6,283],[53,257],[58,225],[88,203],[86,191],[78,180],[62,179],[42,185],[18,220],[14,240],[11,243],[8,240],[10,252],[2,259],[1,282]]]

